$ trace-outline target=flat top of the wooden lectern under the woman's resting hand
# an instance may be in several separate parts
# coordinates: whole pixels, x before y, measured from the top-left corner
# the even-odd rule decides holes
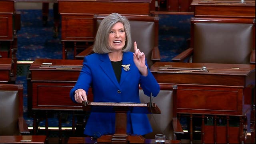
[[[160,114],[161,111],[155,103],[131,103],[131,102],[90,102],[83,101],[82,103],[86,110],[90,107],[90,112],[128,112],[128,113],[146,113]]]

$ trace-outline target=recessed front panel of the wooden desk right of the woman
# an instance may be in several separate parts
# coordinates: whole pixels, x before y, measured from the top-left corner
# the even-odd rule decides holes
[[[242,116],[242,91],[242,88],[180,85],[177,90],[177,112]]]

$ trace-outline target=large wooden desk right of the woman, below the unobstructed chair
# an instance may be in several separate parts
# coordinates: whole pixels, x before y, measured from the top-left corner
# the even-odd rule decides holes
[[[201,70],[203,66],[207,70]],[[243,128],[249,125],[246,115],[250,116],[252,104],[255,105],[252,91],[255,90],[255,65],[156,62],[150,71],[160,85],[178,86],[174,95],[174,116],[189,114],[191,142],[194,114],[202,115],[202,142],[245,141]],[[237,135],[230,134],[232,130],[229,124],[228,128],[224,126],[224,131],[220,130],[217,123],[212,129],[204,125],[204,118],[208,115],[214,116],[215,122],[218,120],[216,116],[226,116],[227,121],[229,116],[240,117]],[[250,119],[247,120],[250,122]],[[251,120],[255,122],[254,118]]]

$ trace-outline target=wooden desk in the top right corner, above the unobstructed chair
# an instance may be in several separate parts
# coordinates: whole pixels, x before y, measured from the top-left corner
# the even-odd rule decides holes
[[[193,0],[196,17],[255,18],[255,0]]]

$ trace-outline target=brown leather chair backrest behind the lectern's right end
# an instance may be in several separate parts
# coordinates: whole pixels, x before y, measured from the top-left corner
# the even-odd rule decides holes
[[[149,103],[150,97],[144,95],[143,90],[140,89],[141,103]],[[146,138],[154,139],[155,134],[165,134],[166,139],[173,140],[173,91],[160,89],[157,97],[153,98],[153,103],[156,103],[161,110],[161,114],[148,114],[153,132],[146,134]]]

